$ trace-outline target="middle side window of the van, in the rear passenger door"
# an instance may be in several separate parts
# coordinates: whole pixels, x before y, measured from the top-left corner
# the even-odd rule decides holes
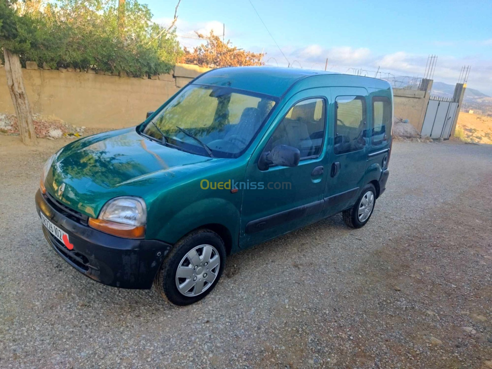
[[[364,149],[366,145],[366,99],[338,96],[335,99],[335,154]]]

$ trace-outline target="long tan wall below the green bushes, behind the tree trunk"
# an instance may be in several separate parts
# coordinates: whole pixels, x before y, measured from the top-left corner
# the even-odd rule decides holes
[[[154,79],[43,69],[22,71],[33,113],[77,126],[122,128],[142,122],[148,111],[157,109],[207,70],[178,64],[171,74]],[[3,67],[0,67],[0,113],[15,113]]]

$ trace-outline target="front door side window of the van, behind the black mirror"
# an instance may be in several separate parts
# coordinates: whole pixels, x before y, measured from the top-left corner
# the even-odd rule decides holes
[[[317,97],[299,101],[278,124],[267,150],[287,145],[299,149],[301,159],[318,156],[323,146],[325,123],[325,99]]]

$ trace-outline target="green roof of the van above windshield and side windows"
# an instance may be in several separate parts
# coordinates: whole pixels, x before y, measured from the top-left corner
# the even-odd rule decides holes
[[[212,69],[199,76],[193,83],[232,87],[280,97],[290,90],[291,87],[295,88],[294,85],[300,81],[303,81],[302,89],[329,86],[367,87],[383,90],[391,88],[388,82],[376,78],[325,72],[322,70],[268,66]]]

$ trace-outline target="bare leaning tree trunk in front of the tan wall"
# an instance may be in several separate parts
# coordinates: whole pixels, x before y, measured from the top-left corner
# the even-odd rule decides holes
[[[19,135],[24,145],[36,145],[36,133],[32,123],[31,105],[22,79],[21,62],[19,55],[3,48],[5,58],[5,74],[7,76],[7,87],[15,108]]]

